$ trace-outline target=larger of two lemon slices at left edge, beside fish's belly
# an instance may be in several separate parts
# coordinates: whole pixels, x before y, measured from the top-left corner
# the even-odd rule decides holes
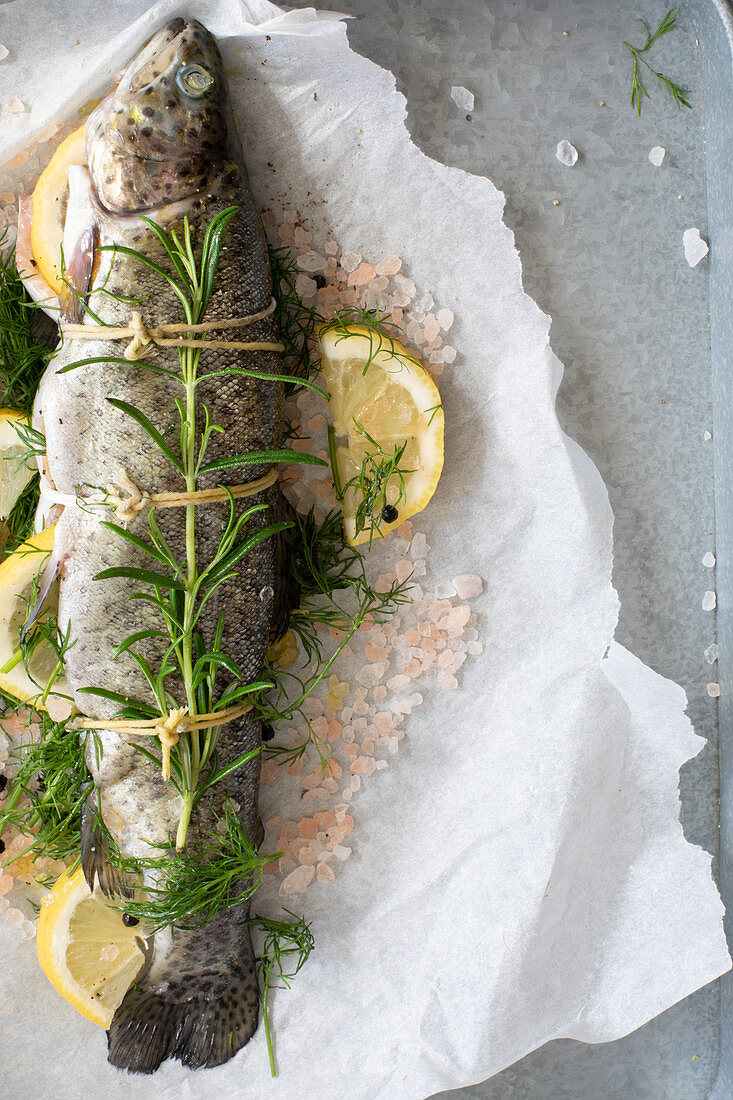
[[[54,680],[48,695],[42,701],[48,681],[56,670],[53,648],[43,641],[33,650],[30,675],[20,657],[19,635],[33,596],[34,582],[42,573],[54,548],[54,527],[46,527],[22,542],[0,563],[0,688],[14,698],[47,711],[61,721],[72,713],[70,688],[62,673]],[[42,616],[55,614],[58,604],[58,582],[55,582],[44,604]]]

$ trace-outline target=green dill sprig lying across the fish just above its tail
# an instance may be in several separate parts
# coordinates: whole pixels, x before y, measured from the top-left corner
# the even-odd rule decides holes
[[[184,851],[144,859],[123,859],[108,835],[116,866],[130,875],[146,872],[141,891],[120,906],[143,922],[146,934],[171,926],[200,928],[222,910],[243,904],[259,888],[263,868],[283,855],[261,856],[228,802],[220,824],[221,833],[214,828],[199,835]]]

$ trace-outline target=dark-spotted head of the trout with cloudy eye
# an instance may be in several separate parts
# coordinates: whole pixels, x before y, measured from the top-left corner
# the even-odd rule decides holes
[[[101,205],[136,213],[205,191],[238,161],[221,54],[195,20],[174,19],[89,116],[87,161]]]

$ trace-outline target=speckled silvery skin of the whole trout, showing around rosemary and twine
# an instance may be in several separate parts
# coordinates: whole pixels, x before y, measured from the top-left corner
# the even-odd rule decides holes
[[[187,95],[182,73],[195,67],[196,96]],[[204,74],[204,75],[201,75]],[[210,82],[209,82],[210,80]],[[204,87],[206,86],[206,87]],[[204,90],[201,90],[204,89]],[[237,205],[239,210],[225,234],[215,290],[207,320],[250,316],[271,299],[271,276],[261,221],[249,190],[239,144],[231,124],[221,58],[214,38],[198,23],[175,20],[143,47],[125,70],[118,90],[96,109],[87,122],[87,152],[94,184],[99,243],[136,249],[169,267],[152,231],[139,220],[144,212],[167,229],[180,230],[187,215],[200,250],[206,226],[217,211]],[[142,299],[145,324],[180,319],[174,294],[133,257],[98,253],[92,286],[112,294]],[[92,297],[95,311],[108,324],[125,323],[130,306],[109,295]],[[87,323],[92,323],[87,317]],[[211,333],[216,337],[217,333]],[[231,332],[220,333],[231,339]],[[271,318],[238,330],[242,340],[277,339]],[[118,397],[135,405],[166,438],[178,438],[174,397],[178,383],[134,363],[96,363],[57,374],[67,363],[122,353],[123,344],[100,340],[67,340],[52,361],[36,403],[36,421],[47,441],[47,464],[56,487],[75,493],[83,486],[109,486],[120,471],[151,493],[180,491],[179,474],[139,426],[108,403]],[[177,353],[158,349],[149,360],[178,370]],[[226,366],[282,373],[272,352],[223,349],[201,355],[200,373]],[[283,432],[281,385],[229,375],[204,382],[199,409],[208,406],[215,435],[208,452],[225,454],[281,446]],[[265,473],[264,468],[220,471],[199,479],[199,487],[236,484]],[[265,512],[250,520],[248,530],[281,516],[276,486],[238,502],[238,513],[253,504]],[[196,509],[196,554],[209,561],[226,526],[229,505]],[[157,521],[183,559],[184,508],[158,509]],[[146,515],[129,529],[145,537]],[[79,692],[101,686],[151,702],[138,666],[129,654],[114,658],[114,649],[129,635],[160,627],[155,608],[131,601],[139,582],[95,580],[102,569],[119,564],[150,568],[150,560],[129,542],[102,527],[96,515],[67,506],[58,520],[57,546],[63,558],[59,622],[70,624],[73,646],[66,674],[79,708],[97,718],[110,717],[117,704]],[[211,638],[220,610],[226,609],[222,649],[242,669],[245,680],[260,674],[281,594],[280,547],[275,539],[261,542],[245,559],[240,574],[219,588],[210,601],[200,628]],[[163,642],[146,639],[140,650],[160,664]],[[180,684],[168,681],[183,698]],[[149,856],[152,844],[167,844],[175,831],[180,800],[171,783],[131,744],[128,734],[101,733],[102,756],[88,752],[88,765],[101,795],[105,822],[123,855]],[[248,717],[229,723],[219,741],[219,763],[236,759],[261,743],[260,723]],[[150,740],[146,743],[150,745]],[[259,843],[262,826],[258,812],[259,760],[218,783],[201,800],[189,828],[189,842],[216,824],[226,796],[239,805],[250,837]],[[84,867],[88,879],[112,889],[114,873],[105,861],[103,846],[84,829]],[[179,1058],[192,1067],[216,1066],[232,1057],[258,1025],[258,993],[247,906],[230,909],[205,928],[169,930],[154,937],[150,965],[127,993],[109,1031],[109,1059],[138,1072],[153,1072],[165,1058]]]

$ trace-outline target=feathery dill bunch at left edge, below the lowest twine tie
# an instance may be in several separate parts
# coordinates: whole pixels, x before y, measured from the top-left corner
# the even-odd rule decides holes
[[[12,751],[18,767],[0,806],[0,836],[7,828],[28,836],[28,846],[15,859],[31,851],[36,859],[76,859],[81,806],[91,784],[85,761],[87,739],[79,739],[69,719],[54,722],[39,711],[33,721],[41,726],[39,739]]]

